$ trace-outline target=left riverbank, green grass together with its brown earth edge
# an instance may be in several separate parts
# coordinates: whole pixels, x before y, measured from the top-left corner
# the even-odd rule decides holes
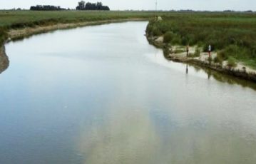
[[[161,14],[166,14],[165,12]],[[116,23],[121,21],[142,21],[154,16],[150,11],[0,11],[0,47],[4,43],[24,39],[58,29],[79,26]]]

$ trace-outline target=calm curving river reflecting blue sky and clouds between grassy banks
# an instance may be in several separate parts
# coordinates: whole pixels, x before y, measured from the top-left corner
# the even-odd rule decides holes
[[[256,163],[256,85],[165,60],[146,21],[6,44],[0,163]]]

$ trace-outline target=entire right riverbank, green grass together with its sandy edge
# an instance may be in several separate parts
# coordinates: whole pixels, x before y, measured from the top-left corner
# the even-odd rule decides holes
[[[164,49],[169,60],[256,81],[255,20],[255,14],[238,13],[159,16],[149,21],[146,34],[150,43]],[[188,45],[191,54],[187,57]],[[213,51],[210,58],[209,45]]]

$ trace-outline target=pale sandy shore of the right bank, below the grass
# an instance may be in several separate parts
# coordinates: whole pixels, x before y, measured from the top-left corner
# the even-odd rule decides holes
[[[196,46],[190,47],[189,56],[185,52],[185,46],[170,46],[168,43],[163,42],[163,36],[153,37],[147,34],[149,43],[158,48],[163,48],[165,58],[171,61],[192,63],[197,66],[210,68],[220,73],[225,73],[238,78],[243,78],[248,81],[256,82],[256,70],[243,63],[237,63],[236,66],[230,66],[227,61],[217,63],[213,58],[217,57],[217,53],[213,52],[209,58],[208,53],[199,53],[195,55]]]

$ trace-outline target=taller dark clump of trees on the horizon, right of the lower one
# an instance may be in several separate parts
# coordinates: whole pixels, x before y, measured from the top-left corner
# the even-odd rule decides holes
[[[109,11],[108,6],[103,6],[101,2],[91,3],[85,1],[79,1],[78,6],[76,6],[76,10],[107,10]]]

